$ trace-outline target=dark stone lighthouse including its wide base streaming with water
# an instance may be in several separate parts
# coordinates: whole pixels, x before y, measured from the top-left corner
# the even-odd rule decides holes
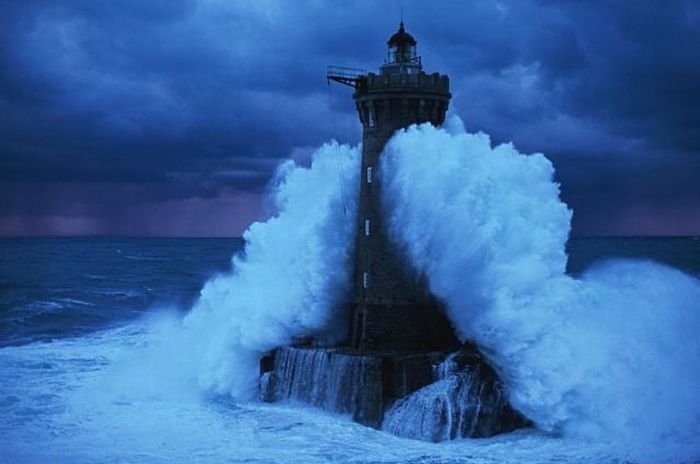
[[[442,124],[451,96],[446,75],[423,71],[403,22],[387,45],[378,73],[332,66],[327,74],[354,89],[363,129],[347,343],[304,337],[267,353],[260,398],[301,401],[377,428],[388,414],[392,433],[429,441],[513,430],[527,421],[508,404],[497,373],[475,346],[459,343],[386,227],[382,177],[392,173],[381,170],[382,152],[401,129]]]

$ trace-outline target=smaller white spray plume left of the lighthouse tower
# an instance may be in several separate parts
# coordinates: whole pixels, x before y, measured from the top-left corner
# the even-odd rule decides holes
[[[358,158],[356,148],[334,142],[314,153],[310,168],[288,161],[278,169],[278,213],[248,228],[232,273],[210,280],[184,320],[201,386],[249,399],[265,351],[342,330],[357,197],[343,184],[357,189]]]

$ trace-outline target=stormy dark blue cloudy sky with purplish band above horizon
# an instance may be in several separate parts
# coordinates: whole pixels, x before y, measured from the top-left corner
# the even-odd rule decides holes
[[[573,234],[700,235],[700,2],[0,0],[0,236],[239,236],[357,144],[400,20],[450,113],[543,152]]]

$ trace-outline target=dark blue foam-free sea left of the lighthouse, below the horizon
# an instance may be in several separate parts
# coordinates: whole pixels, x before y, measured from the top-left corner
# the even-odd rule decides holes
[[[189,308],[242,239],[0,239],[0,346]]]

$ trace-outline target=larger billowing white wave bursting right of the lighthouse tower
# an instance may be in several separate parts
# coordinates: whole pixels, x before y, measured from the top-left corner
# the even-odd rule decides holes
[[[700,281],[643,261],[565,275],[553,173],[456,119],[412,126],[382,157],[390,232],[539,428],[700,447]]]

